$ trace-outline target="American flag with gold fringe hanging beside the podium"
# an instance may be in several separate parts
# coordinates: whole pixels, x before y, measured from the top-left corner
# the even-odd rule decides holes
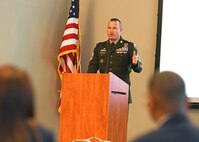
[[[80,72],[79,0],[71,0],[69,17],[66,23],[62,44],[57,57],[58,73]]]

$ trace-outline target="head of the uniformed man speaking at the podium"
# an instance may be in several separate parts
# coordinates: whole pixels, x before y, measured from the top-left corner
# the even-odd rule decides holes
[[[115,42],[120,39],[122,32],[122,23],[117,18],[111,18],[107,26],[107,35],[109,40]]]

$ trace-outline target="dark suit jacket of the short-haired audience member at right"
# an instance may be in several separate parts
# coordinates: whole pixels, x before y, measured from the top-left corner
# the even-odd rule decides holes
[[[175,113],[158,130],[132,142],[199,142],[199,129],[183,113]]]

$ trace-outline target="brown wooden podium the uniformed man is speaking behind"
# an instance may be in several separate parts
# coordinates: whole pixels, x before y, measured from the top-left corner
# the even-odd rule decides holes
[[[114,74],[63,74],[60,142],[127,141],[129,86]]]

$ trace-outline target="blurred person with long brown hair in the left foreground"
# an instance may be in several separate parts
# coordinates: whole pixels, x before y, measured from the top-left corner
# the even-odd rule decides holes
[[[54,142],[34,118],[33,91],[24,71],[0,66],[0,142]]]

